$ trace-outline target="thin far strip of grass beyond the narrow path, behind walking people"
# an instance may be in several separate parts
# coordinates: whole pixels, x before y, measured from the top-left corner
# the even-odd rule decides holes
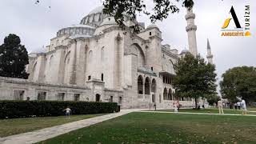
[[[174,109],[170,110],[158,110],[158,111],[170,111],[174,112]],[[232,110],[232,109],[223,109],[224,114],[242,114],[242,110]],[[218,114],[218,109],[180,109],[179,112],[186,112],[186,113],[211,113],[211,114]],[[247,111],[247,114],[256,114],[256,112]]]

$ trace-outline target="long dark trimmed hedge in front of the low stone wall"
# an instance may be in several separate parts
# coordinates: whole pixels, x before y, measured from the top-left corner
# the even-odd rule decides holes
[[[28,118],[64,115],[69,106],[72,114],[101,114],[119,111],[116,102],[70,101],[0,101],[0,118]]]

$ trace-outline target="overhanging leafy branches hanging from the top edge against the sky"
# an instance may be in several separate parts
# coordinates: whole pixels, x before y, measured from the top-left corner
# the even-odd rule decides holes
[[[103,2],[103,12],[113,16],[119,26],[124,27],[123,13],[130,15],[131,19],[135,19],[137,14],[146,14],[150,17],[151,22],[162,21],[168,15],[178,13],[179,8],[173,2],[181,2],[181,0],[154,0],[154,8],[152,13],[144,0],[105,0]],[[182,6],[191,8],[194,5],[193,0],[182,0]],[[138,32],[138,23],[132,26],[134,32]]]

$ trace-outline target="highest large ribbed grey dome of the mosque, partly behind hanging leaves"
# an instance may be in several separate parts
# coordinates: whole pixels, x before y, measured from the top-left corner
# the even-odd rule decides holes
[[[82,18],[80,24],[98,27],[103,22],[104,15],[103,6],[99,6]]]

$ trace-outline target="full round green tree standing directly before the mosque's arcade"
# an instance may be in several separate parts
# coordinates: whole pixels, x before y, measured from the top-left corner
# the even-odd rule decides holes
[[[174,88],[179,97],[190,97],[198,107],[198,98],[206,98],[216,94],[215,66],[207,63],[199,55],[194,57],[186,54],[184,58],[174,64],[176,76]]]

